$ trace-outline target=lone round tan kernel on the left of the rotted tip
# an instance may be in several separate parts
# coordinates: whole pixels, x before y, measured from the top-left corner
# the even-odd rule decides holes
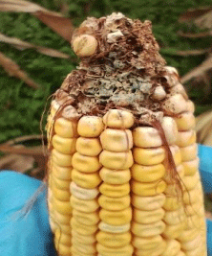
[[[75,55],[78,57],[90,57],[97,50],[97,40],[93,35],[78,35],[72,40]]]

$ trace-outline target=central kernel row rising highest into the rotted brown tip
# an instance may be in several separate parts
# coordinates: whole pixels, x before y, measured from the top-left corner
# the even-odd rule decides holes
[[[133,165],[133,136],[128,128],[133,126],[134,118],[130,112],[112,109],[103,122],[106,128],[100,135],[103,151],[99,155],[103,183],[99,187],[101,209],[96,248],[99,255],[117,255],[118,251],[118,255],[131,256],[129,168]]]

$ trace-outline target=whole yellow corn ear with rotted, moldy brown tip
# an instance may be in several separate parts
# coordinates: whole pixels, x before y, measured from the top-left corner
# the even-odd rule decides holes
[[[206,256],[194,105],[151,24],[88,18],[73,47],[47,124],[58,255]]]

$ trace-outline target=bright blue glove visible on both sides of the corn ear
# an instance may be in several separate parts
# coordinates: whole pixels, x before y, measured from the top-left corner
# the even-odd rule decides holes
[[[205,193],[212,193],[212,148],[199,145],[201,179]],[[15,213],[41,182],[10,171],[0,172],[0,256],[55,256],[46,192],[33,205],[26,218]],[[16,219],[15,219],[16,218]],[[208,256],[212,256],[212,221],[207,220]]]

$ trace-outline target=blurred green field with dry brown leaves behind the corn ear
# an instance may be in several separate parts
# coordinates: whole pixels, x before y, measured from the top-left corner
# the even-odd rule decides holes
[[[29,139],[26,144],[29,146],[31,138],[32,145],[35,144],[34,134],[41,133],[40,120],[48,97],[75,68],[78,59],[69,41],[58,35],[58,29],[62,31],[63,27],[57,28],[57,33],[51,29],[51,23],[55,25],[53,18],[44,24],[34,12],[29,13],[31,5],[26,8],[23,5],[22,10],[22,5],[18,5],[21,1],[10,0],[13,9],[9,12],[6,2],[0,0],[0,143],[29,135],[24,137]],[[160,54],[168,65],[179,70],[181,81],[195,102],[195,114],[211,109],[211,0],[33,0],[31,3],[60,12],[72,20],[74,27],[87,16],[100,17],[112,12],[151,20]],[[33,47],[27,47],[26,43]],[[46,114],[42,129],[45,123]],[[40,143],[39,138],[35,136]],[[0,165],[3,167],[7,165]],[[34,169],[33,164],[30,169]]]

